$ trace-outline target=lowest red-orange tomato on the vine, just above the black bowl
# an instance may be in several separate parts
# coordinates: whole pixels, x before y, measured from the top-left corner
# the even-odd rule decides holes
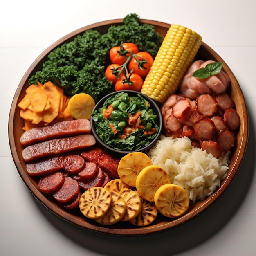
[[[115,90],[133,90],[140,92],[143,85],[143,79],[138,74],[128,74],[126,77],[121,77],[115,84]]]

